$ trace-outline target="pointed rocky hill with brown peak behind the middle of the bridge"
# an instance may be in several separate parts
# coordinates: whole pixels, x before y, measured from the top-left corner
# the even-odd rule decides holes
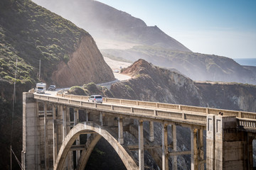
[[[138,60],[122,73],[133,78],[111,86],[112,94],[118,98],[205,106],[193,81],[176,72]]]

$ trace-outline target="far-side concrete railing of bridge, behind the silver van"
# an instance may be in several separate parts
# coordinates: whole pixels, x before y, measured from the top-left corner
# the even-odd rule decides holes
[[[74,98],[87,101],[89,96],[76,96],[70,94],[57,94],[57,96],[65,97],[65,98]],[[178,110],[178,111],[188,111],[191,113],[203,113],[203,114],[213,114],[219,115],[219,113],[223,113],[223,115],[235,116],[237,118],[248,118],[256,120],[256,113],[252,112],[244,112],[244,111],[230,111],[223,110],[218,108],[204,108],[198,106],[184,106],[184,105],[176,105],[170,103],[158,103],[158,102],[150,102],[150,101],[134,101],[128,99],[120,99],[120,98],[103,98],[103,102],[107,103],[118,103],[123,105],[132,105],[132,106],[144,106],[151,108],[161,108],[166,110]]]

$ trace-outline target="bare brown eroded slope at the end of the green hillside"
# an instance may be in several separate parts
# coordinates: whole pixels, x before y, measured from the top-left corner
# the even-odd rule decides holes
[[[114,80],[112,70],[104,61],[90,35],[82,37],[78,49],[70,55],[66,64],[60,62],[51,79],[57,86],[75,86],[90,82]]]

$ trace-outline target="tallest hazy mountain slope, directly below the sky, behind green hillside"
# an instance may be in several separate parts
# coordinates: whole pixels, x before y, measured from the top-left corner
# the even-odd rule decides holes
[[[113,40],[116,40],[123,43],[155,45],[172,50],[191,51],[180,42],[174,40],[174,38],[166,35],[156,26],[146,26],[146,23],[141,19],[135,18],[129,13],[118,11],[98,1],[33,1],[87,30],[95,38],[101,49],[107,47],[106,43],[114,43]],[[105,45],[102,45],[102,41]]]

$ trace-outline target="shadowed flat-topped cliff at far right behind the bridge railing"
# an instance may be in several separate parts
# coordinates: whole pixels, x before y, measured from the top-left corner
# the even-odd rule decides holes
[[[256,86],[250,84],[195,82],[212,108],[256,112]]]

